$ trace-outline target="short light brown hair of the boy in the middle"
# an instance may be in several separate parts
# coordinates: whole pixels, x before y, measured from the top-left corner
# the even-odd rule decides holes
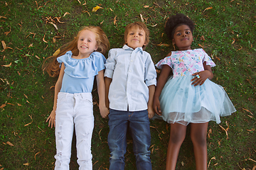
[[[127,42],[127,35],[129,33],[129,30],[132,29],[132,27],[134,26],[138,26],[140,30],[144,30],[144,32],[146,33],[145,35],[145,44],[148,45],[149,44],[149,29],[146,27],[146,24],[142,23],[142,22],[134,22],[134,23],[130,23],[128,26],[125,27],[124,30],[124,44],[126,44]],[[142,46],[142,49],[145,50],[146,45]]]

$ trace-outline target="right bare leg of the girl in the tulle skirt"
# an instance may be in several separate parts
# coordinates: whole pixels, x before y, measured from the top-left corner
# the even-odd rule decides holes
[[[196,158],[196,169],[207,169],[207,135],[208,123],[191,123],[191,140]]]

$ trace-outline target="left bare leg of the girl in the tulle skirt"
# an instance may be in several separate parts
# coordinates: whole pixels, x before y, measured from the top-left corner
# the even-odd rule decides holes
[[[166,170],[176,168],[178,152],[186,137],[186,126],[180,123],[171,123],[170,140],[167,149]]]

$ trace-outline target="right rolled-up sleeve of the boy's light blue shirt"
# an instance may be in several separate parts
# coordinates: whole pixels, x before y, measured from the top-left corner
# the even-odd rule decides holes
[[[149,54],[145,63],[144,81],[146,86],[156,86],[156,69],[154,67],[154,62],[151,60],[151,56]]]

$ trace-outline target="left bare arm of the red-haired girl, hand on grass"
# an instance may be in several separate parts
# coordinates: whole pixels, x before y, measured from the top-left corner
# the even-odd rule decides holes
[[[61,68],[60,68],[60,74],[59,74],[58,80],[55,84],[53,111],[51,111],[49,117],[46,120],[46,122],[49,121],[48,127],[50,127],[50,128],[53,128],[53,125],[55,127],[55,114],[56,114],[55,111],[56,111],[56,108],[57,108],[57,98],[58,98],[58,93],[60,92],[60,89],[61,89],[61,86],[62,86],[64,69],[65,69],[65,64],[62,63]]]

